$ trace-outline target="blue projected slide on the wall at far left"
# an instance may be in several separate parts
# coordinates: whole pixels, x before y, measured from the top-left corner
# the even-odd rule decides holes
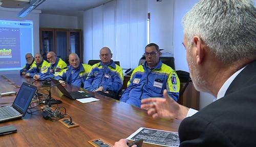
[[[33,22],[0,20],[0,71],[20,70],[33,53]]]

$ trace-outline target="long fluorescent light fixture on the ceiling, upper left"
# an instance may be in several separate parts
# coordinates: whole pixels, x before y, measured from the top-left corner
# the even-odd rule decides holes
[[[17,16],[18,17],[25,17],[27,16],[32,10],[34,10],[37,6],[39,6],[42,2],[46,0],[30,0],[30,3],[28,6],[22,9]]]

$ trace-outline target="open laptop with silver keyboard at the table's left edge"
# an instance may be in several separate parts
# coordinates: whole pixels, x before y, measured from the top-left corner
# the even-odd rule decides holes
[[[36,86],[23,82],[12,106],[0,107],[0,122],[25,116],[36,90]]]

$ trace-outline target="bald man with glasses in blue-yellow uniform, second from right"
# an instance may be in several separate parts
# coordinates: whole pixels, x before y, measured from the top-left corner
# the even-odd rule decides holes
[[[116,65],[108,47],[100,49],[100,63],[92,66],[89,76],[84,82],[84,89],[104,96],[116,98],[123,85],[123,69]]]

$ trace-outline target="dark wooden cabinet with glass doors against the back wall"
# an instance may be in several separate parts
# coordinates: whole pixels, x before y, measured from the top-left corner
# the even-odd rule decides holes
[[[40,53],[46,57],[49,51],[54,51],[63,60],[70,53],[77,53],[80,61],[82,56],[82,31],[66,28],[40,28]]]

